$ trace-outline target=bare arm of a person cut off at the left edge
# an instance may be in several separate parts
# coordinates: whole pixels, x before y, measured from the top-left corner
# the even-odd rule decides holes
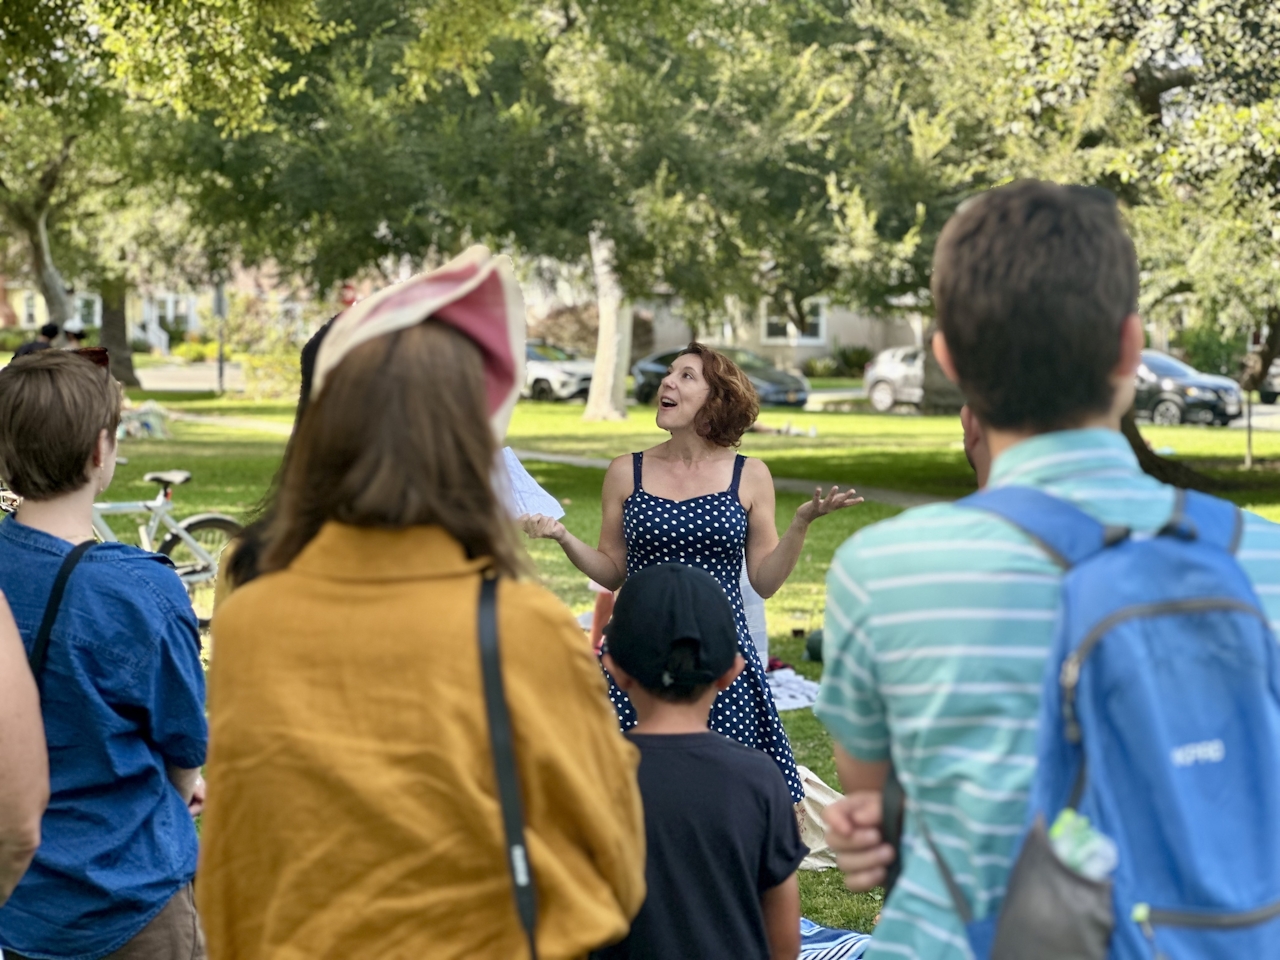
[[[0,906],[4,906],[40,846],[40,818],[49,803],[49,750],[27,650],[3,595],[0,771],[4,771],[0,777]]]

